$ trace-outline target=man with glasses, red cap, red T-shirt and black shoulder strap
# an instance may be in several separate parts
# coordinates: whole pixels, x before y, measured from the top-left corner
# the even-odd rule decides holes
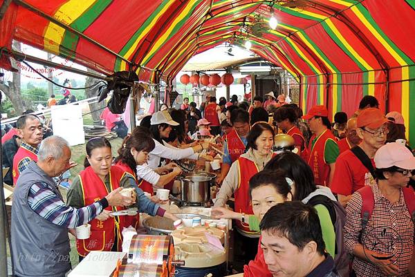
[[[337,193],[338,200],[344,207],[355,191],[373,184],[374,177],[367,167],[373,167],[376,151],[385,144],[387,122],[387,118],[378,108],[366,108],[358,115],[356,132],[362,142],[353,151],[347,150],[339,155],[331,182],[331,191]],[[356,151],[359,152],[355,153]],[[365,166],[363,159],[370,161],[370,165]]]

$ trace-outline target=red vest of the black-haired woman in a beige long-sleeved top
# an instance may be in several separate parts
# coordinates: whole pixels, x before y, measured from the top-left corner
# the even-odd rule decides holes
[[[234,191],[235,211],[237,213],[253,215],[252,202],[249,197],[249,180],[253,175],[258,173],[258,168],[255,162],[252,162],[245,157],[239,157],[237,162],[239,163],[239,184],[238,188]],[[248,218],[248,216],[246,216],[246,218]],[[259,233],[250,231],[248,222],[242,223],[239,220],[236,220],[236,222],[237,228],[245,233],[250,233],[252,235]]]

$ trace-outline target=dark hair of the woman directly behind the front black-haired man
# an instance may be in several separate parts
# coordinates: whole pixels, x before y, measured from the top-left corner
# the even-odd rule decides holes
[[[263,170],[253,175],[249,180],[249,195],[252,195],[252,190],[262,186],[271,185],[278,194],[287,197],[291,192],[291,187],[288,185],[284,171],[282,170]]]

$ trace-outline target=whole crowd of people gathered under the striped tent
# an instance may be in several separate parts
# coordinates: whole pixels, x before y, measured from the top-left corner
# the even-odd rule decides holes
[[[112,211],[136,207],[177,220],[145,193],[171,189],[182,172],[178,160],[212,161],[213,146],[223,155],[212,217],[235,220],[242,266],[234,269],[243,276],[415,276],[415,157],[402,115],[384,115],[365,96],[354,115],[339,112],[332,123],[325,106],[303,115],[284,95],[266,96],[249,104],[205,95],[199,108],[184,99],[179,110],[142,118],[115,160],[108,140],[89,140],[66,201],[56,182],[75,165],[68,143],[43,139],[37,116],[20,117],[12,173],[17,276],[64,276],[68,231],[86,222],[91,237],[77,240],[80,259],[120,250],[122,227],[138,218]],[[133,188],[135,197],[121,188]]]

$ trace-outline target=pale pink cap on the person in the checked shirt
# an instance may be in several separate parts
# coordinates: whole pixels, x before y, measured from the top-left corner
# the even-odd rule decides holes
[[[374,157],[376,169],[388,169],[398,166],[401,169],[415,169],[415,157],[404,144],[387,143],[376,151]]]

